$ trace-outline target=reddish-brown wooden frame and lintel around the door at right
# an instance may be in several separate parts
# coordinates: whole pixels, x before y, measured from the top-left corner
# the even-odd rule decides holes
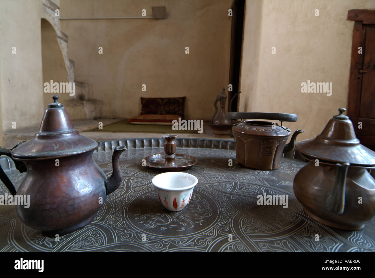
[[[363,145],[374,145],[375,135],[370,135],[371,121],[374,121],[374,119],[359,118],[360,94],[362,90],[363,76],[363,73],[359,73],[359,70],[363,69],[364,55],[358,53],[358,48],[360,46],[364,48],[365,46],[366,27],[375,25],[375,10],[349,10],[347,20],[355,21],[353,27],[352,52],[350,62],[347,115],[353,122],[357,138],[361,141],[361,143]],[[358,128],[359,121],[362,122],[362,129]]]

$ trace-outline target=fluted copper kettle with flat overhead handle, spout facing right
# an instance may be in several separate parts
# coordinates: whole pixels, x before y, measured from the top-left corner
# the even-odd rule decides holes
[[[236,119],[266,118],[296,121],[295,114],[231,112],[228,117]],[[279,166],[283,152],[294,148],[296,137],[303,130],[291,135],[290,129],[269,121],[241,121],[232,127],[236,143],[236,160],[243,166],[258,170],[273,170]]]

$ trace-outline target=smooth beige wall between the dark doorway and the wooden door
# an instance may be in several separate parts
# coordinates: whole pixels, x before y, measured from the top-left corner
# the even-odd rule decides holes
[[[339,107],[347,107],[350,9],[375,9],[375,2],[247,0],[240,111],[297,114],[297,123],[285,123],[292,132],[305,130],[297,140],[320,133]],[[276,54],[271,54],[273,46]],[[332,82],[332,95],[301,93],[301,83],[308,80]]]

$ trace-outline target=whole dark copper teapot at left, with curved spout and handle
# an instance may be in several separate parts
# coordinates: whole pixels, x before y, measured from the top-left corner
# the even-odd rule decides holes
[[[30,197],[29,207],[17,205],[21,220],[45,235],[65,235],[89,224],[103,206],[107,194],[118,188],[122,175],[118,158],[126,146],[117,146],[112,156],[113,172],[106,178],[93,161],[99,142],[74,128],[58,96],[44,112],[34,138],[0,155],[12,158],[20,172],[27,170],[17,195]],[[16,190],[0,170],[10,193]]]

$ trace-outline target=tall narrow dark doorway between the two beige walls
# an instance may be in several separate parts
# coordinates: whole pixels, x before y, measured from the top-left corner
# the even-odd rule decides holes
[[[243,35],[243,18],[245,13],[245,0],[234,0],[231,9],[232,31],[231,31],[231,51],[229,63],[229,84],[233,85],[233,91],[229,91],[228,112],[237,112],[238,97],[234,97],[231,107],[229,103],[233,96],[239,92],[240,87],[240,69]]]

